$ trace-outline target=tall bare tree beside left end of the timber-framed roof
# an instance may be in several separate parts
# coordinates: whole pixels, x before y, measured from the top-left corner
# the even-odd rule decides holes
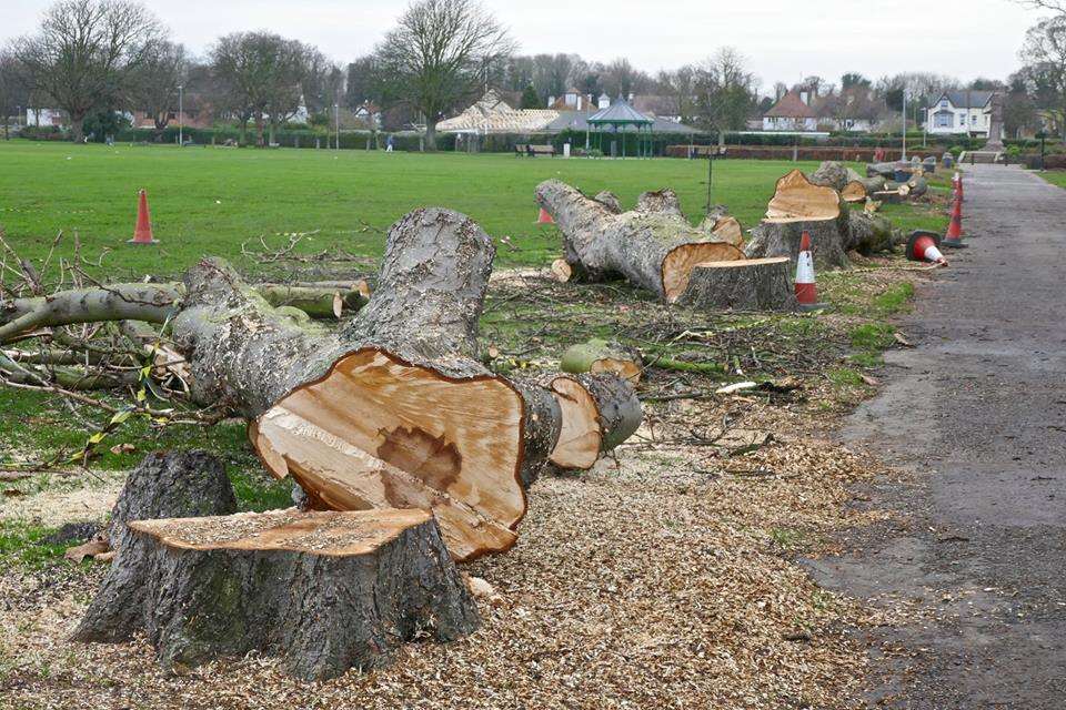
[[[382,98],[420,111],[425,146],[436,150],[444,112],[482,84],[486,63],[513,50],[506,29],[475,0],[415,0],[374,49]]]

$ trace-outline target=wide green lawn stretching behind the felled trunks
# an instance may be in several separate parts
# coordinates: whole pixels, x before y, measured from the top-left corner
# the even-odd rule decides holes
[[[713,200],[744,227],[763,215],[774,182],[814,163],[726,160],[714,164]],[[43,256],[56,235],[80,236],[86,256],[114,250],[108,275],[181,272],[203,255],[241,264],[241,244],[314,232],[306,253],[339,247],[376,256],[382,232],[422,205],[469,214],[495,237],[510,236],[500,264],[544,264],[559,252],[554,227],[534,224],[533,190],[559,178],[587,193],[612,190],[633,204],[645,190],[673,187],[692,219],[706,202],[707,164],[678,159],[516,159],[501,154],[418,154],[325,150],[72,145],[0,142],[0,226],[22,255]],[[128,246],[135,195],[148,190],[158,246]],[[931,216],[889,205],[901,226]],[[935,222],[937,216],[932,217]],[[372,229],[366,229],[370,225]],[[69,248],[69,246],[68,246]]]

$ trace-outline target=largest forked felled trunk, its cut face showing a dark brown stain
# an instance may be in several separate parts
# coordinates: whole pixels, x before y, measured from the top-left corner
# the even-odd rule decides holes
[[[336,332],[203,260],[185,273],[177,312],[167,305],[190,396],[253,419],[260,458],[312,508],[430,509],[457,559],[505,550],[565,422],[549,388],[482,365],[476,328],[493,255],[467,217],[416,210],[391,229],[369,303]],[[135,318],[147,307],[119,308]],[[640,419],[627,384],[591,397],[586,419],[613,408]]]

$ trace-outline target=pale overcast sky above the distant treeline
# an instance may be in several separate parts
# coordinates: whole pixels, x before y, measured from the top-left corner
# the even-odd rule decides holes
[[[627,57],[645,71],[697,62],[722,45],[748,58],[764,92],[809,74],[872,79],[933,71],[969,80],[1017,69],[1039,16],[1010,0],[483,0],[522,53]],[[32,32],[49,0],[0,0],[0,40]],[[219,36],[271,30],[346,62],[363,54],[405,0],[147,0],[175,39],[200,53]]]

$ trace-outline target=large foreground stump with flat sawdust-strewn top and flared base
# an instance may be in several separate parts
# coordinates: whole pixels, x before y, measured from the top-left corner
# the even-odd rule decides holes
[[[475,602],[424,510],[129,523],[74,640],[143,632],[164,666],[258,651],[304,680],[386,663],[406,640],[477,628]]]

